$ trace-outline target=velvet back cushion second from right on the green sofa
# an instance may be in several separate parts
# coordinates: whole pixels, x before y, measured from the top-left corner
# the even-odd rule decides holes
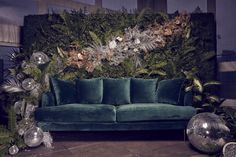
[[[131,79],[131,102],[154,103],[156,99],[158,79]]]

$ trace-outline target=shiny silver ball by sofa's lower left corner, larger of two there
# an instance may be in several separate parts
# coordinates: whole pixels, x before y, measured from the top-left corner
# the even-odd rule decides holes
[[[43,142],[43,131],[38,127],[27,130],[24,134],[24,142],[29,147],[37,147]]]

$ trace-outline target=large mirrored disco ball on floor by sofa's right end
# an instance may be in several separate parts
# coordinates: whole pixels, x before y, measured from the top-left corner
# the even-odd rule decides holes
[[[208,154],[221,151],[229,132],[225,121],[213,113],[199,113],[192,117],[187,126],[189,142]]]

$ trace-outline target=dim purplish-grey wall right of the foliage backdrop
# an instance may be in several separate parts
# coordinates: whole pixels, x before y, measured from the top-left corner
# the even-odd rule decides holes
[[[236,105],[236,1],[216,0],[218,78],[225,105]]]

